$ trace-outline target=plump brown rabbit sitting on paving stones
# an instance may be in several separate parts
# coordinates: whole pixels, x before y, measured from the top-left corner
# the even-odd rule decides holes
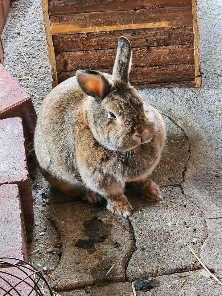
[[[113,75],[78,70],[56,86],[39,111],[35,153],[49,183],[127,217],[132,206],[124,195],[135,182],[141,196],[161,199],[150,175],[159,162],[165,128],[156,109],[129,84],[131,46],[118,40]]]

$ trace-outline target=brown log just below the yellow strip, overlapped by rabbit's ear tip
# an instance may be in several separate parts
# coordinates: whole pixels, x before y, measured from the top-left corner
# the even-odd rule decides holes
[[[192,44],[193,28],[148,28],[140,30],[53,35],[55,52],[114,49],[119,36],[130,40],[132,47]]]

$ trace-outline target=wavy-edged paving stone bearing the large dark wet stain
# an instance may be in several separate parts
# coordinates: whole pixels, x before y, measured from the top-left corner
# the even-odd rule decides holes
[[[125,265],[134,246],[128,220],[78,200],[49,205],[47,216],[62,241],[53,287],[64,290],[125,280]]]

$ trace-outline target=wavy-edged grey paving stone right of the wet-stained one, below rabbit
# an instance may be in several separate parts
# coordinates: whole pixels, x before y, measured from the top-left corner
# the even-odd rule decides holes
[[[126,269],[130,280],[194,269],[192,262],[196,260],[187,244],[199,256],[207,238],[202,212],[179,187],[162,188],[162,196],[163,200],[153,205],[129,198],[137,247]]]

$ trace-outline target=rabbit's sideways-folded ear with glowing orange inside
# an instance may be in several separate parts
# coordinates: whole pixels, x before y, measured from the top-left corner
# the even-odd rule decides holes
[[[111,88],[103,73],[94,70],[77,70],[76,80],[85,94],[97,100],[102,100]]]

